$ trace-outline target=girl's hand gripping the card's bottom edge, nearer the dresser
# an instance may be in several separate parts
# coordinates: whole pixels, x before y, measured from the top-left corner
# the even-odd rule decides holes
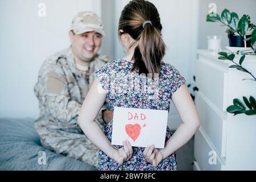
[[[153,167],[158,166],[158,164],[163,160],[163,154],[154,145],[147,146],[143,152],[144,158],[147,162],[151,163]]]

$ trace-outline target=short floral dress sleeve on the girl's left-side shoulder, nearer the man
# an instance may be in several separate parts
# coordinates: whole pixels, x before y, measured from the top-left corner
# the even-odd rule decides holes
[[[103,67],[98,69],[98,71],[95,72],[96,77],[101,83],[102,88],[108,92],[109,89],[109,80],[110,80],[110,75],[109,75],[109,64],[105,64]]]

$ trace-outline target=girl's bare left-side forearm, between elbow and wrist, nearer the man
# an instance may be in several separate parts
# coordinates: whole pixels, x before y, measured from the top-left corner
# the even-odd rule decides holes
[[[108,138],[106,138],[100,126],[96,122],[82,122],[79,124],[82,131],[88,139],[95,144],[100,150],[105,152],[110,158],[113,159],[115,148],[112,146]],[[85,126],[86,125],[86,126]]]

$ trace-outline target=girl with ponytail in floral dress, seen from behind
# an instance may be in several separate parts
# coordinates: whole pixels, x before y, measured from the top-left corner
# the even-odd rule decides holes
[[[200,119],[185,79],[177,69],[163,61],[166,45],[162,28],[158,10],[148,1],[130,1],[122,10],[118,38],[127,56],[111,61],[96,72],[97,77],[82,104],[78,119],[86,137],[100,148],[99,170],[176,170],[175,151],[199,129]],[[154,76],[146,79],[157,84],[144,84],[144,75]],[[104,132],[94,122],[106,98],[112,111],[114,107],[169,111],[172,100],[182,124],[173,135],[167,127],[163,149],[155,148],[154,144],[146,148],[131,147],[128,140],[123,142],[123,146],[112,146],[113,122],[106,125]]]

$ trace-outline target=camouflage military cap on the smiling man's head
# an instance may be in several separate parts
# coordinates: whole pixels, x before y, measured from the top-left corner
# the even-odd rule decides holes
[[[90,11],[82,11],[77,14],[72,21],[71,30],[77,35],[91,31],[105,35],[101,18]]]

